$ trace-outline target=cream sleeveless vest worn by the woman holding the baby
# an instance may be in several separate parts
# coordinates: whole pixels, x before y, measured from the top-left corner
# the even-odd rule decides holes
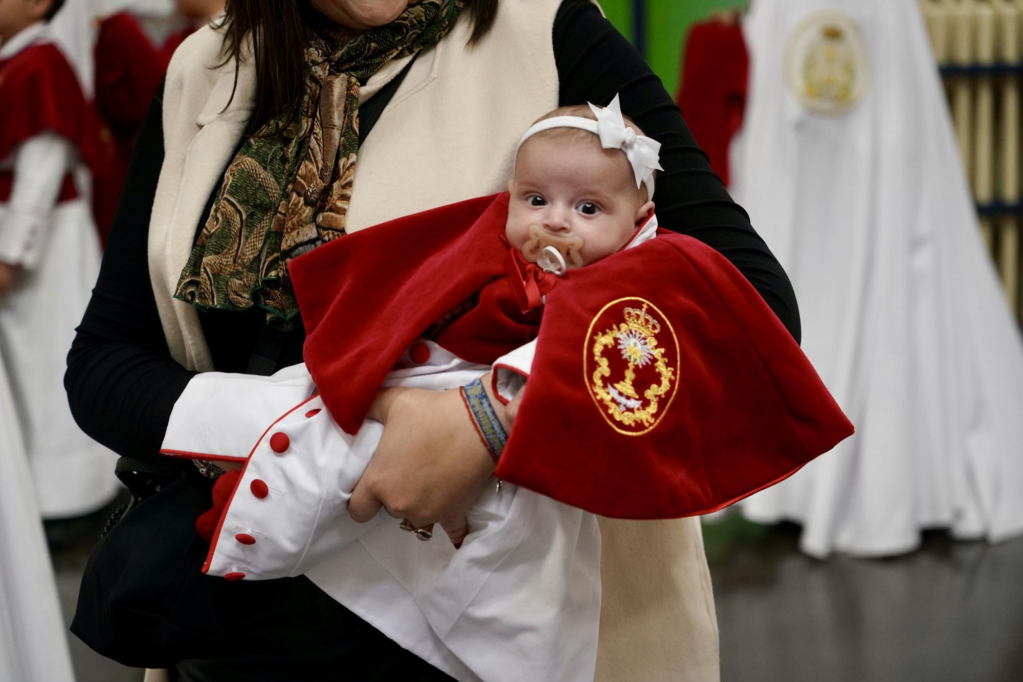
[[[558,105],[551,45],[561,0],[504,0],[493,31],[466,47],[460,22],[416,59],[362,147],[348,229],[505,187],[523,131]],[[172,356],[212,370],[193,307],[172,298],[207,200],[241,139],[253,70],[219,61],[210,28],[175,52],[164,92],[165,158],[149,223],[149,274]],[[404,67],[388,65],[366,98]],[[230,103],[228,104],[228,100]],[[602,102],[603,103],[603,102]],[[226,108],[226,109],[225,109]],[[718,679],[717,621],[698,519],[601,519],[604,606],[595,679]]]

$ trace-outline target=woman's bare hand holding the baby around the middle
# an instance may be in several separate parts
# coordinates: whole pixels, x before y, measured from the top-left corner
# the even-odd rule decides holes
[[[384,423],[384,435],[352,492],[349,514],[365,522],[383,505],[417,528],[440,523],[451,542],[460,544],[468,532],[465,512],[495,467],[461,395],[385,388],[369,416]]]

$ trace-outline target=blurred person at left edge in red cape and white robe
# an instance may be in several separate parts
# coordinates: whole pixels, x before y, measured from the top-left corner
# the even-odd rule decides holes
[[[0,14],[0,352],[40,512],[81,516],[118,488],[115,457],[75,424],[66,354],[99,271],[91,170],[106,148],[91,109],[89,3]],[[18,14],[21,11],[23,14]],[[81,34],[85,33],[83,38]]]

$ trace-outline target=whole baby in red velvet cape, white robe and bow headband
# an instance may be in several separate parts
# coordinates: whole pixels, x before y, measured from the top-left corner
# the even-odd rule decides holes
[[[459,680],[592,680],[596,513],[714,511],[851,431],[745,278],[658,236],[659,150],[617,97],[558,110],[520,141],[507,194],[296,259],[305,365],[198,375],[171,415],[162,452],[244,465],[201,519],[205,572],[306,574]],[[349,516],[390,386],[460,390],[497,462],[457,550]],[[495,401],[518,408],[510,436]]]

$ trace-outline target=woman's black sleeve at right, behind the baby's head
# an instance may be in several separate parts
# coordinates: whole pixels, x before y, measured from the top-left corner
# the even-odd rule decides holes
[[[605,105],[616,93],[622,112],[661,142],[657,177],[660,224],[713,247],[746,275],[797,341],[799,307],[788,275],[728,196],[697,145],[661,79],[586,0],[565,0],[554,19],[554,60],[562,105]]]

